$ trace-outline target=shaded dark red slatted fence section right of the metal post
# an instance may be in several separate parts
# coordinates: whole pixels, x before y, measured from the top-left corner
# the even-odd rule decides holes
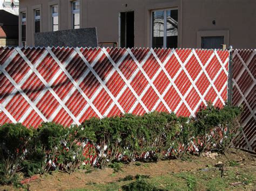
[[[234,105],[242,106],[242,138],[237,146],[256,153],[256,49],[236,49],[233,52]]]

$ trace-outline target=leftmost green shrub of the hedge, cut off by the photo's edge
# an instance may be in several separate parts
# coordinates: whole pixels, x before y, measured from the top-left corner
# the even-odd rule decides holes
[[[32,136],[33,131],[19,123],[0,126],[0,183],[18,180],[17,173],[21,170]]]

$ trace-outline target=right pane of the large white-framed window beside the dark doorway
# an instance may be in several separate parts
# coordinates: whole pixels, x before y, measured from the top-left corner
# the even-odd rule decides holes
[[[166,48],[178,46],[178,10],[166,10]]]

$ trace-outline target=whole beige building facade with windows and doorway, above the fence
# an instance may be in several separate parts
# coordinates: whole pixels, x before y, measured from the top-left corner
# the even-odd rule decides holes
[[[255,48],[255,0],[20,0],[19,45],[35,32],[96,27],[119,47]]]

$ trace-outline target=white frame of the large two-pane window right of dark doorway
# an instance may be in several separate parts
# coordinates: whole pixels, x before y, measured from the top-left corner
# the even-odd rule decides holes
[[[152,47],[152,34],[153,34],[153,12],[155,11],[164,11],[164,41],[163,41],[163,48],[166,48],[166,27],[167,27],[167,22],[166,22],[166,11],[171,11],[171,10],[178,10],[178,15],[179,15],[179,9],[178,8],[166,8],[166,9],[153,9],[150,11],[150,47]],[[178,17],[178,23],[179,23],[179,17]],[[179,29],[178,29],[178,34],[179,34]]]

